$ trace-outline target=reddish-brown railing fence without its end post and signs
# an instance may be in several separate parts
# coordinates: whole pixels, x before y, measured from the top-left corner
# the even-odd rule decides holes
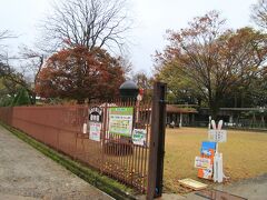
[[[96,117],[99,113],[90,113],[90,109],[92,112],[96,111],[92,108],[100,108],[101,116]],[[128,111],[132,113],[120,116],[120,109],[117,109],[116,116],[113,108],[122,110],[129,108]],[[101,173],[129,184],[140,192],[146,192],[150,108],[150,103],[136,104],[136,102],[120,101],[111,104],[0,108],[0,120]],[[115,110],[115,113],[111,110]],[[90,114],[92,114],[91,119],[89,119]],[[119,119],[120,117],[125,119]],[[130,120],[127,118],[131,117],[132,124],[128,124]],[[92,123],[89,120],[92,120]],[[93,120],[98,121],[100,127],[97,127]],[[116,127],[116,120],[125,121]],[[87,133],[82,133],[85,123],[88,126]],[[131,137],[126,136],[127,133],[122,134],[129,127],[147,132],[146,143],[134,143]],[[117,129],[120,134],[110,129]],[[100,136],[97,136],[98,131]]]

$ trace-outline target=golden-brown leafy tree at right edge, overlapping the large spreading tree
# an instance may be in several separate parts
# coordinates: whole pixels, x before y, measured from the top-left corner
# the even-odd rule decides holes
[[[254,107],[251,86],[255,86],[266,68],[267,36],[251,28],[243,28],[226,36],[227,46],[224,47],[222,58],[230,60],[233,83],[231,91],[227,91],[228,98],[235,96],[235,107]],[[233,87],[231,87],[233,86]],[[254,89],[258,90],[259,86]],[[227,99],[227,98],[225,98]]]

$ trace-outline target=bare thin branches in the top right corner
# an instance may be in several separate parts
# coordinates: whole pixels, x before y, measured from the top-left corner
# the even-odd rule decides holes
[[[251,19],[265,30],[267,29],[267,0],[258,0],[251,7]]]

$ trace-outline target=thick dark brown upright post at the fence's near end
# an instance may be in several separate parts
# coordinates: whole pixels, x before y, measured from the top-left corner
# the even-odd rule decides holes
[[[161,197],[165,154],[167,84],[155,82],[151,111],[151,132],[149,141],[147,199]]]

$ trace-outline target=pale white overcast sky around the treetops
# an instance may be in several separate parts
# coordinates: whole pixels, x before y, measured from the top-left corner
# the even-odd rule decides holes
[[[130,32],[129,58],[135,71],[148,74],[152,54],[167,44],[167,29],[185,28],[194,17],[218,10],[229,28],[251,26],[250,6],[257,0],[128,0],[135,29]],[[31,46],[38,37],[36,26],[49,12],[50,0],[0,0],[0,30],[9,29],[18,39],[9,41],[10,54],[20,44]]]

